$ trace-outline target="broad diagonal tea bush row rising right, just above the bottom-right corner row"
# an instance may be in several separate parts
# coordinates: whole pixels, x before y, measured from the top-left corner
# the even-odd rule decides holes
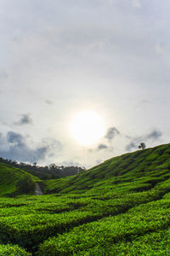
[[[165,201],[161,201],[164,204]],[[139,209],[138,209],[139,208]],[[98,222],[84,224],[71,232],[50,238],[39,247],[37,255],[73,255],[93,247],[111,247],[120,241],[132,241],[138,236],[167,229],[170,208],[159,207],[159,202],[134,207],[130,212]]]

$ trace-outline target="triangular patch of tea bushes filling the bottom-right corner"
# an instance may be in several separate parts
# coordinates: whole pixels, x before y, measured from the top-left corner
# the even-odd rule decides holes
[[[167,256],[170,254],[170,230],[161,230],[132,241],[122,241],[109,247],[94,247],[88,251],[74,253],[77,256]]]

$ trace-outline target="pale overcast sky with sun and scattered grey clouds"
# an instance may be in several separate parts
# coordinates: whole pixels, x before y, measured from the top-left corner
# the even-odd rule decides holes
[[[167,0],[0,0],[0,156],[88,168],[170,143],[169,12]],[[82,143],[87,132],[99,137]]]

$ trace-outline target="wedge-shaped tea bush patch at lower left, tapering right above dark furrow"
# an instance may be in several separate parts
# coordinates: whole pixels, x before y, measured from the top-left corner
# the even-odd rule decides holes
[[[49,236],[57,236],[79,224],[97,219],[92,212],[63,212],[59,214],[30,214],[0,218],[0,239],[17,243],[29,250]]]

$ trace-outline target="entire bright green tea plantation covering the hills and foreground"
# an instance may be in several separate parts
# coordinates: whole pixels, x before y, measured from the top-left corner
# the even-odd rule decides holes
[[[0,165],[0,255],[170,255],[170,144],[38,181],[44,195],[12,197],[12,168]]]

